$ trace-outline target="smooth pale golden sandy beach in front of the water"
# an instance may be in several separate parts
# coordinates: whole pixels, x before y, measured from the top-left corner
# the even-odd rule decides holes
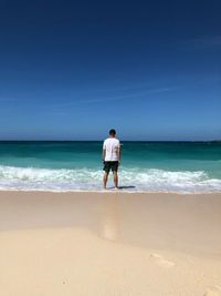
[[[221,295],[221,194],[0,192],[2,296]]]

